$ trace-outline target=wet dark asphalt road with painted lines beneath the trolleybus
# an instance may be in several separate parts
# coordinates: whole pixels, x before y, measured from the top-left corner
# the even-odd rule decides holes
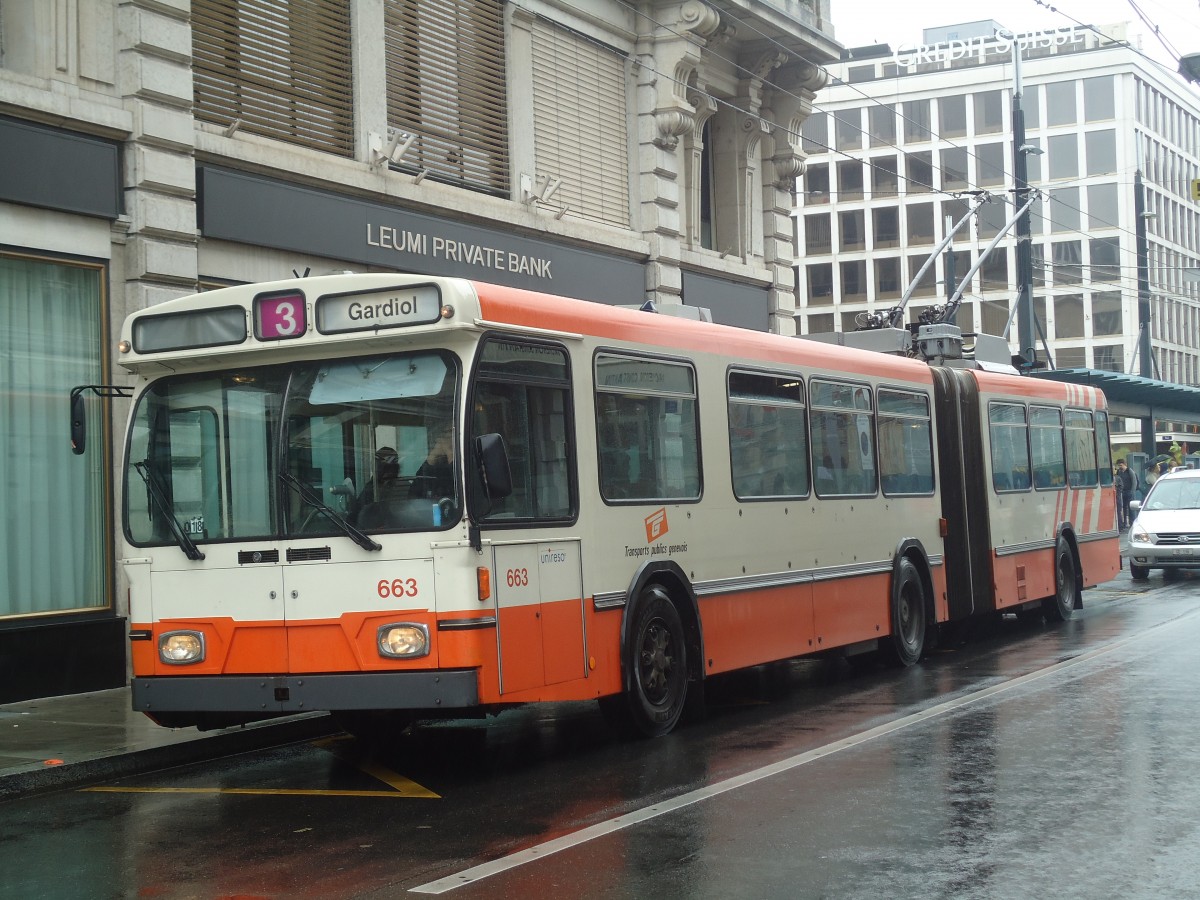
[[[299,744],[0,804],[2,898],[1165,898],[1200,877],[1200,577],[899,672]]]

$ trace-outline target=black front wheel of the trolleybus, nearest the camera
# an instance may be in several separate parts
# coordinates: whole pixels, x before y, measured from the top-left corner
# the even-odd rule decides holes
[[[642,592],[625,647],[629,690],[617,707],[629,728],[656,738],[674,728],[688,701],[688,647],[679,611],[660,587]],[[616,703],[610,702],[610,713]]]

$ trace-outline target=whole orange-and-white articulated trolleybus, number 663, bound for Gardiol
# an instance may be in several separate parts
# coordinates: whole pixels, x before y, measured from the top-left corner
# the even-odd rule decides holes
[[[655,736],[709,676],[912,665],[1118,568],[1092,388],[379,274],[168,301],[119,350],[166,726],[599,700]]]

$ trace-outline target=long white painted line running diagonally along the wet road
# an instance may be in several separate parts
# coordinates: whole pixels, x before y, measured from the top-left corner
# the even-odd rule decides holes
[[[563,835],[562,838],[556,838],[554,840],[546,841],[545,844],[538,844],[527,850],[522,850],[517,853],[503,857],[500,859],[493,859],[490,863],[484,863],[481,865],[472,866],[470,869],[463,869],[461,872],[455,872],[454,875],[448,875],[444,878],[438,878],[437,881],[426,882],[425,884],[419,884],[415,888],[409,888],[409,893],[413,894],[445,894],[455,888],[461,888],[467,884],[473,884],[476,881],[482,881],[484,878],[490,878],[493,875],[499,875],[500,872],[509,871],[510,869],[516,869],[518,866],[533,863],[538,859],[544,859],[552,853],[558,853],[564,850],[570,850],[571,847],[577,847],[581,844],[587,844],[588,841],[596,840],[598,838],[604,838],[613,832],[619,832],[623,828],[629,828],[630,826],[640,824],[647,822],[658,816],[665,815],[667,812],[674,812],[684,806],[690,806],[694,803],[700,803],[707,800],[712,797],[718,797],[722,793],[730,791],[736,791],[739,787],[745,787],[746,785],[752,785],[756,781],[762,781],[763,779],[772,778],[773,775],[779,775],[784,772],[790,772],[791,769],[805,766],[810,762],[817,760],[823,760],[833,754],[841,752],[842,750],[850,750],[851,748],[859,746],[876,738],[882,738],[887,734],[901,731],[904,728],[912,727],[913,725],[919,725],[930,719],[940,715],[946,715],[956,709],[971,706],[972,703],[979,703],[984,700],[1001,694],[1002,691],[1013,690],[1014,688],[1020,688],[1022,685],[1030,684],[1048,676],[1052,676],[1057,672],[1062,672],[1066,668],[1088,662],[1097,656],[1103,656],[1108,653],[1112,653],[1132,641],[1136,641],[1146,635],[1157,631],[1164,625],[1175,624],[1181,618],[1189,618],[1192,616],[1200,614],[1200,610],[1190,611],[1178,616],[1168,622],[1159,623],[1153,628],[1147,629],[1138,635],[1122,638],[1120,641],[1114,641],[1110,644],[1105,644],[1098,649],[1091,650],[1082,654],[1081,656],[1075,656],[1074,659],[1064,660],[1062,662],[1056,662],[1048,668],[1038,670],[1037,672],[1030,672],[1028,674],[1013,678],[1008,682],[1002,682],[1000,684],[994,684],[990,688],[984,688],[983,690],[976,691],[974,694],[967,695],[965,697],[959,697],[958,700],[949,700],[944,703],[937,703],[928,709],[923,709],[919,713],[913,713],[912,715],[906,715],[902,719],[896,719],[893,722],[887,722],[884,725],[877,725],[868,731],[859,732],[858,734],[852,734],[851,737],[842,738],[841,740],[835,740],[832,744],[826,744],[824,746],[818,746],[815,750],[808,750],[803,754],[797,754],[796,756],[790,756],[786,760],[780,760],[779,762],[772,763],[770,766],[763,766],[762,768],[746,772],[742,775],[736,775],[734,778],[726,779],[724,781],[716,781],[707,787],[701,787],[695,791],[689,791],[688,793],[679,794],[678,797],[665,800],[664,803],[655,803],[653,806],[646,806],[634,812],[626,812],[624,816],[617,816],[616,818],[610,818],[607,822],[598,822],[594,826],[589,826],[572,834]]]

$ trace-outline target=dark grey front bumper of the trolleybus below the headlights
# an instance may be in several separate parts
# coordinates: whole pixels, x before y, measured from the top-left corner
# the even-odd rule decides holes
[[[479,706],[473,668],[301,676],[167,676],[133,679],[140,713],[280,715],[332,709],[464,709]]]

